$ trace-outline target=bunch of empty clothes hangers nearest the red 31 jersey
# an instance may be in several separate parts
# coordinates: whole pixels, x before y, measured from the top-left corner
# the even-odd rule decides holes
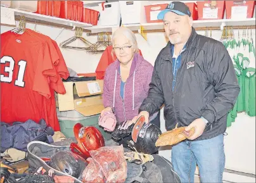
[[[71,42],[74,42],[76,40],[80,40],[86,46],[85,47],[68,46],[68,44],[70,44]],[[86,39],[84,39],[84,37],[82,37],[82,28],[79,28],[79,27],[75,30],[75,36],[70,37],[66,41],[63,41],[60,43],[60,47],[65,48],[65,49],[88,50],[89,47],[91,47],[91,46],[93,46],[93,44],[91,42],[87,41]]]

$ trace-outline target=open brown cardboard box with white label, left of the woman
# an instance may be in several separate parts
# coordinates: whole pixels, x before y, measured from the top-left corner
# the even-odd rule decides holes
[[[58,94],[60,111],[76,110],[85,117],[101,113],[103,80],[63,82],[66,94]]]

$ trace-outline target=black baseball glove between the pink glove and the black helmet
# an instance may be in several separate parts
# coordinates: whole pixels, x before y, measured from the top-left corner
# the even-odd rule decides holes
[[[127,136],[130,136],[131,133],[132,133],[132,129],[134,127],[134,124],[130,125],[127,129],[122,129],[122,127],[125,126],[126,123],[128,123],[129,121],[127,122],[124,122],[124,123],[121,123],[119,125],[117,125],[117,127],[115,127],[115,130],[113,130],[112,132],[112,139],[114,141],[119,141],[120,139],[124,138],[124,137],[127,137]]]

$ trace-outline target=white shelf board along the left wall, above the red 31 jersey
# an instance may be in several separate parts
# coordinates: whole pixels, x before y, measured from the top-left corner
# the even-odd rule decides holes
[[[68,26],[75,26],[75,27],[91,27],[92,25],[89,23],[83,23],[83,22],[76,22],[74,20],[67,20],[64,18],[58,18],[58,17],[53,17],[53,16],[47,16],[47,15],[41,15],[37,13],[32,13],[28,11],[22,11],[19,9],[13,9],[13,8],[6,8],[1,6],[1,11],[6,10],[6,11],[13,11],[15,16],[25,16],[26,20],[28,19],[30,22],[35,22],[37,20],[42,21],[42,22],[48,22],[48,23],[56,23],[58,25],[68,25]],[[49,24],[49,25],[51,25]]]

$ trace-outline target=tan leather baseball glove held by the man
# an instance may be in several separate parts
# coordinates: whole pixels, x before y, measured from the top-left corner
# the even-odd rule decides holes
[[[192,128],[191,130],[189,130],[189,132],[186,132],[185,128],[186,127],[177,128],[176,125],[175,129],[172,129],[160,135],[157,139],[157,142],[155,142],[155,146],[172,146],[193,136],[193,134],[195,133],[195,128]]]

